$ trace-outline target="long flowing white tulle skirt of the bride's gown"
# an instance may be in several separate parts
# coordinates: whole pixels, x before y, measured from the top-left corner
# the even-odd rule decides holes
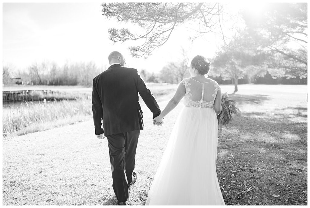
[[[217,142],[214,110],[184,107],[145,205],[225,205],[216,174]]]

